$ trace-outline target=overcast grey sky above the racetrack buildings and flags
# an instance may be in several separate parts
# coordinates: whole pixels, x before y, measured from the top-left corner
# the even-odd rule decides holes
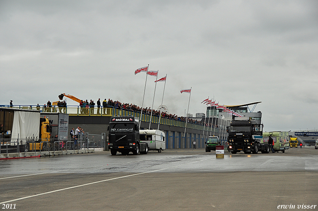
[[[0,0],[0,104],[67,93],[141,106],[146,74],[134,71],[148,64],[167,74],[169,113],[184,116],[192,87],[193,116],[208,97],[261,101],[266,131],[318,129],[317,0]]]

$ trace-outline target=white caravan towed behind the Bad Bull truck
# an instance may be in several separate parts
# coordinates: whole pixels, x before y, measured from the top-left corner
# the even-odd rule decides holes
[[[140,142],[148,143],[149,150],[165,149],[165,135],[164,132],[159,130],[140,130]]]

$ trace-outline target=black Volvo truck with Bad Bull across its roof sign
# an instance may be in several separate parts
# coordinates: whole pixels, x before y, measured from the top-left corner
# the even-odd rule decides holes
[[[108,148],[112,155],[121,152],[124,155],[147,154],[148,143],[140,142],[139,120],[136,117],[112,117],[108,127]]]

